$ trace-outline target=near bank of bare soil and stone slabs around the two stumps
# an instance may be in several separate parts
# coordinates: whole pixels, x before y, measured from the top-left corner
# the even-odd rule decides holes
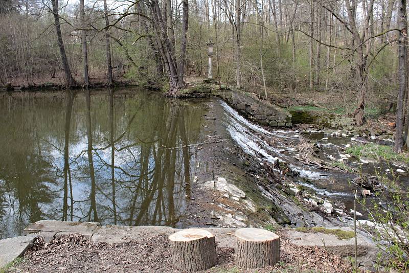
[[[352,270],[351,263],[346,259],[354,254],[354,234],[350,230],[327,229],[325,233],[314,230],[278,230],[276,233],[280,235],[280,262],[274,267],[257,270],[240,270],[235,266],[235,229],[206,230],[215,235],[218,253],[218,264],[206,272]],[[3,270],[179,272],[173,269],[167,240],[167,237],[176,231],[178,230],[166,226],[101,226],[87,222],[40,221],[25,230],[26,234],[38,236],[32,240],[29,250]],[[323,241],[317,238],[321,238],[325,246]],[[375,268],[373,260],[376,252],[375,244],[365,234],[358,234],[357,254],[360,268]]]

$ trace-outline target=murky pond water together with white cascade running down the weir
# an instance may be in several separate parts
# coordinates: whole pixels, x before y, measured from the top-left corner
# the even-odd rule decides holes
[[[209,139],[212,128],[203,122],[210,113],[228,136],[224,141],[259,168],[273,166],[294,194],[302,188],[331,202],[335,211],[329,218],[348,217],[359,189],[350,183],[356,174],[297,160],[299,131],[263,128],[220,100],[167,100],[147,90],[101,89],[2,94],[0,104],[1,238],[21,235],[41,219],[191,226],[191,187],[202,160],[197,144]],[[353,136],[303,135],[319,145],[326,162],[330,155],[338,160],[345,145],[354,144]],[[361,166],[364,175],[385,169],[352,157],[348,164]],[[392,168],[405,170],[399,179],[409,185],[407,166]]]

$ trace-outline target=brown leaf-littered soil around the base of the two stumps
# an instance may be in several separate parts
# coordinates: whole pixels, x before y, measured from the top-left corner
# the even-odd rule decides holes
[[[280,234],[280,233],[278,233]],[[281,234],[280,234],[281,235]],[[294,247],[281,235],[280,262],[262,269],[240,270],[233,248],[217,248],[218,264],[201,272],[351,272],[349,262],[316,247]],[[71,234],[44,243],[38,238],[24,259],[5,272],[181,272],[173,268],[166,236],[141,236],[124,244],[93,243]]]

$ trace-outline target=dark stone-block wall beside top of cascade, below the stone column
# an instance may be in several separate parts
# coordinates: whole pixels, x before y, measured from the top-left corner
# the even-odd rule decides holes
[[[291,114],[284,109],[266,104],[257,98],[253,98],[240,90],[213,89],[211,85],[198,85],[191,89],[182,90],[179,97],[211,97],[215,96],[242,116],[260,125],[271,127],[291,127]]]

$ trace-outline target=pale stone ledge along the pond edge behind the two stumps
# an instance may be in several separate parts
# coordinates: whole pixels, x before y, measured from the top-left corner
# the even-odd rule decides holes
[[[222,227],[203,229],[215,235],[218,247],[234,247],[235,243],[233,234],[236,229]],[[349,227],[340,227],[339,229],[343,231],[352,231],[352,229]],[[90,238],[95,243],[117,244],[129,242],[144,236],[169,236],[177,231],[179,231],[179,229],[174,229],[170,226],[101,226],[99,223],[92,222],[41,220],[30,224],[24,232],[28,234],[36,233],[40,236],[44,236],[44,234],[53,234],[53,237],[79,233]],[[294,229],[284,230],[283,234],[294,246],[325,247],[328,252],[342,257],[355,255],[354,238],[343,240],[337,238],[337,236],[333,234],[321,232],[300,232]],[[49,237],[49,239],[51,240],[52,237]],[[357,253],[360,257],[359,261],[375,260],[377,251],[378,249],[376,244],[368,236],[358,234]]]

